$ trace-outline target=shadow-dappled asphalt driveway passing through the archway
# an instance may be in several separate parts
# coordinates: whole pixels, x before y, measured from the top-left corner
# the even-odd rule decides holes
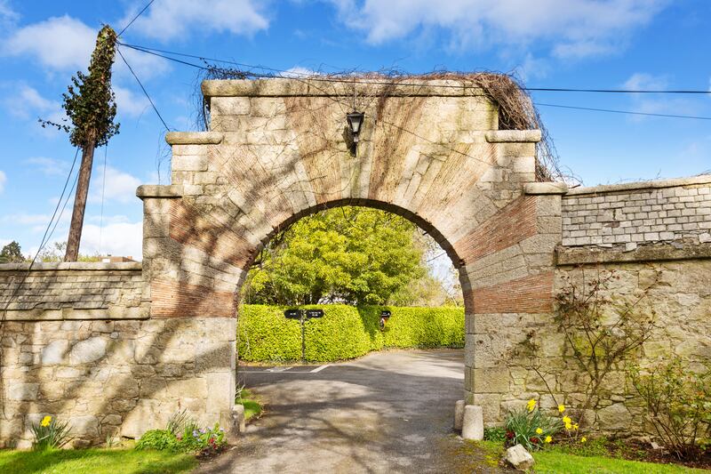
[[[267,403],[236,446],[198,472],[492,472],[452,430],[462,350],[377,352],[328,366],[240,367]]]

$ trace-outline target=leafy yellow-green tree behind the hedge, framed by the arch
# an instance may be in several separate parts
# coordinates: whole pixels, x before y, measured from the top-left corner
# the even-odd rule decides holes
[[[383,304],[427,274],[417,227],[400,216],[340,207],[276,236],[250,270],[247,302]]]

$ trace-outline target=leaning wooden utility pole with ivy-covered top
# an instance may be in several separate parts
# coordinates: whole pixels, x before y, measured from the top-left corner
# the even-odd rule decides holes
[[[82,149],[82,165],[76,183],[74,211],[64,261],[76,261],[79,256],[94,149],[105,146],[108,140],[118,133],[118,124],[114,123],[116,102],[111,90],[111,66],[114,64],[115,55],[116,31],[105,26],[100,29],[96,38],[96,47],[89,63],[89,74],[77,72],[76,76],[72,77],[68,92],[63,94],[62,107],[72,125],[40,121],[43,126],[54,125],[68,132],[71,144]]]

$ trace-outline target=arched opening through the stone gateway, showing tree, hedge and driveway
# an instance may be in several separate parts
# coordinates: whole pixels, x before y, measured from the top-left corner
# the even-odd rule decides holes
[[[437,256],[452,259],[452,270],[454,263],[459,262],[452,245],[432,224],[415,213],[379,201],[358,201],[354,206],[349,200],[340,200],[314,206],[275,229],[269,235],[271,241],[262,240],[262,248],[252,258],[252,270],[240,282],[241,304],[237,309],[240,355],[236,379],[238,400],[239,390],[251,390],[250,398],[256,396],[268,405],[268,416],[255,422],[240,440],[237,450],[252,453],[249,461],[244,461],[247,462],[244,469],[278,470],[279,459],[295,463],[292,469],[298,469],[295,466],[313,469],[316,457],[325,471],[347,464],[356,470],[376,464],[402,470],[413,457],[434,456],[437,443],[451,434],[451,411],[455,401],[463,398],[465,378],[465,310],[459,285],[456,287],[459,308],[450,309],[396,307],[392,300],[395,291],[387,294],[371,291],[363,295],[349,293],[348,288],[342,287],[325,291],[317,288],[316,292],[306,292],[307,296],[301,297],[294,293],[265,292],[263,281],[259,288],[249,288],[260,272],[269,271],[260,265],[272,265],[271,269],[275,265],[296,265],[299,273],[309,259],[316,258],[319,261],[314,262],[315,267],[327,266],[328,256],[315,257],[312,248],[304,248],[309,237],[310,244],[324,245],[329,238],[358,238],[377,232],[378,221],[367,219],[372,217],[369,214],[376,213],[394,221],[383,229],[383,234],[387,231],[392,236],[393,229],[405,234],[411,232],[405,237],[410,237],[409,244],[414,247],[403,249],[406,255],[400,255],[401,260],[412,258],[413,253],[408,251],[415,250],[418,266]],[[303,225],[305,221],[307,225]],[[355,226],[367,222],[371,227],[348,232],[333,229],[334,221]],[[309,231],[313,234],[304,235]],[[341,255],[345,259],[357,259],[354,255],[367,250],[369,244],[377,246],[373,252],[394,253],[392,246],[377,245],[378,238],[356,245],[333,245],[330,250],[352,251]],[[284,245],[301,246],[290,253],[284,250]],[[407,238],[396,245],[408,245]],[[295,254],[299,252],[307,254]],[[403,269],[403,265],[393,262],[396,258],[390,254],[383,260],[389,259],[388,264]],[[334,267],[342,264],[343,261],[333,262]],[[345,277],[358,274],[358,269],[350,270]],[[379,270],[387,273],[387,269]],[[286,273],[277,277],[293,277],[292,273]],[[410,277],[403,285],[412,285],[416,279]],[[319,286],[310,280],[308,283]],[[371,283],[372,280],[366,281],[366,285]],[[294,284],[293,280],[284,283],[288,284]],[[290,319],[284,315],[285,309],[303,308],[322,309],[324,316]],[[383,328],[378,327],[381,310],[391,313]],[[418,326],[408,331],[408,325]],[[452,333],[453,325],[458,326],[456,335]],[[449,332],[443,334],[449,340],[433,337],[435,332],[444,331]],[[403,338],[401,344],[393,343],[398,339],[393,335],[397,332]],[[436,348],[437,341],[442,341],[440,348]],[[284,347],[279,347],[280,343]],[[301,360],[304,356],[306,360]],[[403,438],[404,434],[407,436]],[[274,443],[275,439],[279,443]],[[268,453],[260,454],[258,450],[255,455],[254,449],[265,443],[270,446]]]

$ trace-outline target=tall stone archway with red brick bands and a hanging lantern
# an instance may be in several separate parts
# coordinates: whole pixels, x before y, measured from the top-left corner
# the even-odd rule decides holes
[[[235,298],[260,246],[307,213],[370,205],[429,231],[455,262],[467,403],[499,419],[512,375],[492,325],[552,310],[564,187],[535,182],[539,131],[498,130],[496,105],[457,84],[422,80],[356,103],[365,121],[354,156],[345,114],[352,97],[372,98],[368,81],[328,91],[297,79],[204,82],[211,130],[169,133],[172,184],[138,193],[150,317],[199,327],[200,350],[212,355],[192,373],[210,377],[211,404],[193,400],[194,411],[228,421]]]

